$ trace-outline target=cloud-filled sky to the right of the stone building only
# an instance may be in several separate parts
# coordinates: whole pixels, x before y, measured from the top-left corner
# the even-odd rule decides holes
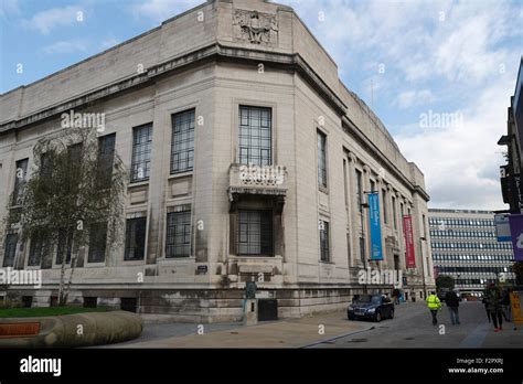
[[[280,2],[295,8],[365,100],[370,78],[380,78],[372,107],[424,172],[430,206],[504,207],[497,141],[506,132],[523,51],[520,1]],[[385,73],[369,63],[383,63]],[[427,111],[460,113],[462,120],[421,128]]]

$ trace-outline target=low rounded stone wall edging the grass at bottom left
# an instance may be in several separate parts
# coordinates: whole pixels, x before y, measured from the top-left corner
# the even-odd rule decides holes
[[[29,331],[39,329],[34,335]],[[143,321],[126,311],[0,319],[0,348],[74,348],[132,340]],[[23,335],[17,335],[21,333]],[[2,334],[4,334],[2,337]]]

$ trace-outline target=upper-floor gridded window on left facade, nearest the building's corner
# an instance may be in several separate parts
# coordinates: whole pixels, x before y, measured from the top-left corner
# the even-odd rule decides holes
[[[171,173],[193,169],[194,115],[194,109],[172,115]]]

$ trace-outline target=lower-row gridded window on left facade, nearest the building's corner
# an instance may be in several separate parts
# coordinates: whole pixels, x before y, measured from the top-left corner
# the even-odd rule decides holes
[[[191,211],[167,214],[166,257],[189,257],[191,255]]]

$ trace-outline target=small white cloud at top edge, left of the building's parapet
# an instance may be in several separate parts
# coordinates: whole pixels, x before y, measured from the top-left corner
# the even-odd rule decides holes
[[[202,0],[146,0],[132,3],[130,11],[136,18],[162,22],[201,3]]]

